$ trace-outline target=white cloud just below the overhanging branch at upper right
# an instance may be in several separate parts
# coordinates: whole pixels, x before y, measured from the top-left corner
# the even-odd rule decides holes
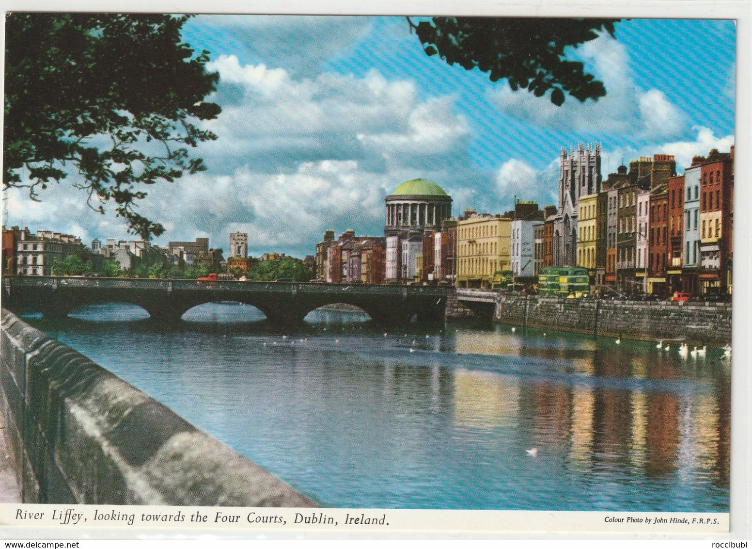
[[[503,113],[531,124],[574,133],[626,134],[641,139],[671,138],[687,123],[684,114],[660,90],[640,90],[629,74],[624,44],[608,34],[573,50],[606,87],[606,96],[584,103],[567,96],[557,107],[526,90],[513,92],[508,84],[493,88],[490,102]]]

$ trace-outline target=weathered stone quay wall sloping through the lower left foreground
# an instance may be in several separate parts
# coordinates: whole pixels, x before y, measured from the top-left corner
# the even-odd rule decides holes
[[[0,407],[23,502],[317,506],[8,310],[0,328]]]

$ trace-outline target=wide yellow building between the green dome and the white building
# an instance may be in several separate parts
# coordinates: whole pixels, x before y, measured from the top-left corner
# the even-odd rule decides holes
[[[511,222],[473,211],[457,220],[458,288],[490,288],[493,273],[511,270]]]

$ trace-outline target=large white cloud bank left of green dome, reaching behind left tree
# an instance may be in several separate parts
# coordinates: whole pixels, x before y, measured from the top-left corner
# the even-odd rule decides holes
[[[469,130],[451,97],[421,99],[412,81],[374,70],[304,78],[235,56],[211,69],[218,95],[231,90],[235,101],[206,124],[219,139],[194,151],[207,172],[145,189],[138,212],[165,225],[157,242],[209,236],[226,249],[229,233],[243,230],[256,253],[311,254],[326,228],[383,235],[384,197],[406,179],[432,178],[448,193],[466,180]],[[30,228],[72,232],[75,223],[86,239],[125,236],[120,220],[86,208],[84,194],[43,199],[18,205]]]

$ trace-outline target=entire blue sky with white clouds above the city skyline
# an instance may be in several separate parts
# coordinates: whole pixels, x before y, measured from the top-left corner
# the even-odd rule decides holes
[[[734,142],[735,24],[623,20],[571,49],[603,81],[597,102],[562,107],[423,53],[404,17],[201,15],[183,27],[219,72],[208,100],[219,136],[192,152],[208,170],[148,189],[138,211],[165,225],[153,242],[207,236],[249,254],[315,252],[326,229],[383,236],[384,197],[428,178],[453,213],[502,213],[514,197],[556,204],[559,151],[602,144],[602,176],[640,155],[695,154]],[[4,194],[5,226],[135,239],[65,180],[35,203]],[[110,209],[111,211],[111,209]]]

